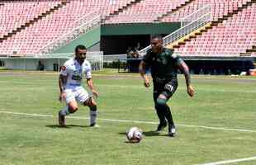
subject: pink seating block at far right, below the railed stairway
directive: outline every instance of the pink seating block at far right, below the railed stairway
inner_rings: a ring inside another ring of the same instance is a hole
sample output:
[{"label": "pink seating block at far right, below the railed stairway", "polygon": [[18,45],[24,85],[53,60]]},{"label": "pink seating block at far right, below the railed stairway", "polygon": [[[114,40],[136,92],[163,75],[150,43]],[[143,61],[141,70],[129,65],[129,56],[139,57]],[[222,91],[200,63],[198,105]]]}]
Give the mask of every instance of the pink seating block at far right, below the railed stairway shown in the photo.
[{"label": "pink seating block at far right, below the railed stairway", "polygon": [[219,26],[180,45],[184,56],[240,56],[256,45],[256,4],[230,17]]}]

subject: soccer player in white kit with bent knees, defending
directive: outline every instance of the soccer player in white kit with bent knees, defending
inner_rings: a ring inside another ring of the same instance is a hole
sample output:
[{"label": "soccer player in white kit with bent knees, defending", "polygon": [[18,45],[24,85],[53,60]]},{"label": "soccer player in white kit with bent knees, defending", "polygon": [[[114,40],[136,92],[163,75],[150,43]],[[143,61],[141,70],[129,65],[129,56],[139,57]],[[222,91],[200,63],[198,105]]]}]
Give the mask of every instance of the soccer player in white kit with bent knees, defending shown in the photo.
[{"label": "soccer player in white kit with bent knees, defending", "polygon": [[98,96],[98,92],[93,87],[92,69],[91,64],[86,59],[86,51],[85,46],[78,45],[75,48],[75,57],[67,60],[59,73],[59,99],[65,100],[67,103],[67,106],[59,111],[60,126],[65,126],[65,115],[78,110],[78,102],[90,108],[90,126],[97,126],[97,103],[82,87],[82,78],[85,74],[92,95]]}]

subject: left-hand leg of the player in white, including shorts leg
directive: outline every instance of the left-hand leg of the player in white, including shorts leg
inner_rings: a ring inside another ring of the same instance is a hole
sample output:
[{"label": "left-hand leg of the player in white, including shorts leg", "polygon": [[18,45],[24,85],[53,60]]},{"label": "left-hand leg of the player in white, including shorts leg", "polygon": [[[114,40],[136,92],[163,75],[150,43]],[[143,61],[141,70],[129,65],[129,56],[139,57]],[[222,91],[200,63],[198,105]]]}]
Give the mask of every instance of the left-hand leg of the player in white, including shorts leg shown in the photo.
[{"label": "left-hand leg of the player in white, including shorts leg", "polygon": [[66,90],[65,92],[67,106],[65,106],[61,111],[59,111],[60,126],[65,126],[65,115],[69,115],[78,110],[78,103],[75,100],[74,92],[72,92],[71,90]]}]

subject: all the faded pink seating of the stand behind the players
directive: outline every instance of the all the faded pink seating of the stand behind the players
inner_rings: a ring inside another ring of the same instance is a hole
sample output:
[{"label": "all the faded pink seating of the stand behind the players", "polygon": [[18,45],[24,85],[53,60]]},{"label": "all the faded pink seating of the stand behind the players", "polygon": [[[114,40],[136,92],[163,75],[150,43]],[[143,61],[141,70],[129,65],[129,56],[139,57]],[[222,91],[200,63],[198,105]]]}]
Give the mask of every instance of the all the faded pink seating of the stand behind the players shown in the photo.
[{"label": "all the faded pink seating of the stand behind the players", "polygon": [[[185,56],[256,56],[256,5],[253,0],[20,0],[0,3],[0,54],[35,54],[101,15],[105,24],[180,21],[211,5],[213,21],[221,21],[175,50]],[[246,7],[244,7],[244,5]],[[244,7],[242,11],[237,11]],[[238,12],[238,13],[237,13]],[[237,14],[236,14],[237,13]]]}]

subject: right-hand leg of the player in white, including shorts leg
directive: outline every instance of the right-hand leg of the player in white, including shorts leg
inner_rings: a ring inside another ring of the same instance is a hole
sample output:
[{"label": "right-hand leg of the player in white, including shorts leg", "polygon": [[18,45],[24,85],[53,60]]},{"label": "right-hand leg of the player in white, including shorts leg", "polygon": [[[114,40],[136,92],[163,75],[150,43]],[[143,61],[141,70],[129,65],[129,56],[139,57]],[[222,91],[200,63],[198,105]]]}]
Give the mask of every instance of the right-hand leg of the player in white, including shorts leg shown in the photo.
[{"label": "right-hand leg of the player in white, including shorts leg", "polygon": [[90,108],[90,126],[97,126],[97,103],[92,98],[89,97],[88,92],[83,88],[79,88],[77,100],[83,104],[83,106],[88,106]]}]

